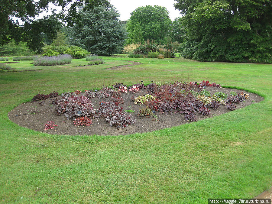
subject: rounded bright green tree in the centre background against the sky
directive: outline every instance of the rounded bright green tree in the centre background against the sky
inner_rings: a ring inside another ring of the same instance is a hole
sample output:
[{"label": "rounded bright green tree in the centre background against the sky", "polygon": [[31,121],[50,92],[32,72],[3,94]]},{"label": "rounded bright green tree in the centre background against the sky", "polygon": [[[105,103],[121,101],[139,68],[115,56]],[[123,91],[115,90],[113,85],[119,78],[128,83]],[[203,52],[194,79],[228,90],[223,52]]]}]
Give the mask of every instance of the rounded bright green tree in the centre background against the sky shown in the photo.
[{"label": "rounded bright green tree in the centre background against the sky", "polygon": [[[136,32],[134,32],[135,28],[137,29]],[[128,36],[134,43],[138,43],[137,40],[141,39],[140,31],[142,31],[144,40],[154,39],[156,42],[161,42],[170,28],[169,12],[162,6],[136,8],[135,11],[131,12],[131,17],[127,23]]]}]

